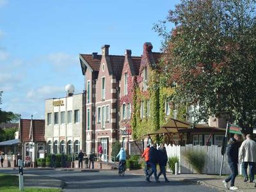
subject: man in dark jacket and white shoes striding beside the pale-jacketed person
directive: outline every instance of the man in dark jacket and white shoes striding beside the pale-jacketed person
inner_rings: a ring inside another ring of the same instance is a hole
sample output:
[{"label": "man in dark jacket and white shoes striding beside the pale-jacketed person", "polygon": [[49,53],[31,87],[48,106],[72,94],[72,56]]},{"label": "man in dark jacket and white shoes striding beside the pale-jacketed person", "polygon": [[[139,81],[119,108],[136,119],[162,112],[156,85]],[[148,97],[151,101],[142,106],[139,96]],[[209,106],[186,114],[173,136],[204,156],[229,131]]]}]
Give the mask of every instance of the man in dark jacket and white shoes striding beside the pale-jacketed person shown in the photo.
[{"label": "man in dark jacket and white shoes striding beside the pale-jacketed person", "polygon": [[239,150],[239,141],[241,141],[241,136],[238,134],[234,134],[234,138],[230,138],[227,146],[227,157],[228,164],[230,166],[231,175],[227,177],[227,179],[223,180],[223,184],[225,188],[228,189],[228,182],[230,182],[230,190],[236,190],[237,187],[235,184],[236,176],[238,175],[238,150]]}]

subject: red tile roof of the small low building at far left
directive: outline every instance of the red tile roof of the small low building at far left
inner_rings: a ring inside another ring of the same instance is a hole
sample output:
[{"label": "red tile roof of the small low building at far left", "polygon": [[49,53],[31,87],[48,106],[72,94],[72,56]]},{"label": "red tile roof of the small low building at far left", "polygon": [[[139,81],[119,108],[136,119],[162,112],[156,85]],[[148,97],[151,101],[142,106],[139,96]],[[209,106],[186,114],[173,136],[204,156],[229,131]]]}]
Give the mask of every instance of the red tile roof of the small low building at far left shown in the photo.
[{"label": "red tile roof of the small low building at far left", "polygon": [[[31,126],[30,119],[21,119],[20,120],[20,140],[22,142],[29,142],[29,131]],[[45,131],[45,121],[44,120],[33,120],[33,139],[34,141],[45,141],[44,131]]]}]

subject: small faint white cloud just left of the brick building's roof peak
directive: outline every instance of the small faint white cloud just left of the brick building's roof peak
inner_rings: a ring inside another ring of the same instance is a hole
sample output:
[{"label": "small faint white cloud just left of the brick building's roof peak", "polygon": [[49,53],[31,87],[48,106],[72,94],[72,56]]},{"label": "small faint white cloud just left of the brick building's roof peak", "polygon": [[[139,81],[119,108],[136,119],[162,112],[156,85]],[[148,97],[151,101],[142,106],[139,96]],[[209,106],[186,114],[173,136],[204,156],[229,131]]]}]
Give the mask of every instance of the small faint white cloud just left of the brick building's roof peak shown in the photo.
[{"label": "small faint white cloud just left of the brick building's roof peak", "polygon": [[47,56],[47,59],[58,69],[65,70],[68,67],[77,65],[78,57],[65,52],[55,52]]}]

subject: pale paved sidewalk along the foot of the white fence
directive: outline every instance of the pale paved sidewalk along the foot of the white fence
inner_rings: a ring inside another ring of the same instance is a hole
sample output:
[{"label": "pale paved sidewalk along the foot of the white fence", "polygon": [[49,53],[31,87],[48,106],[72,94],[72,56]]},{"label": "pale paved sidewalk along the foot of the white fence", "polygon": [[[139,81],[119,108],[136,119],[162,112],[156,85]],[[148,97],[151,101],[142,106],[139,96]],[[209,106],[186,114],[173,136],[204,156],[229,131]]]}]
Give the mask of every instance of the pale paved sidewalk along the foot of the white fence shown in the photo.
[{"label": "pale paved sidewalk along the foot of the white fence", "polygon": [[[127,171],[134,175],[144,175],[143,170],[130,170]],[[227,176],[221,176],[218,175],[200,175],[200,174],[180,174],[180,175],[173,175],[171,173],[166,173],[166,176],[170,180],[179,180],[184,182],[195,182],[196,184],[202,184],[204,186],[210,187],[210,188],[216,188],[220,191],[228,191],[224,188],[222,181]],[[162,177],[162,178],[161,178]],[[160,181],[163,180],[163,176],[160,177]],[[244,191],[244,192],[251,192],[256,191],[256,188],[254,187],[255,183],[249,183],[249,182],[243,182],[243,177],[236,177],[235,185],[237,186],[238,190],[236,191]]]}]

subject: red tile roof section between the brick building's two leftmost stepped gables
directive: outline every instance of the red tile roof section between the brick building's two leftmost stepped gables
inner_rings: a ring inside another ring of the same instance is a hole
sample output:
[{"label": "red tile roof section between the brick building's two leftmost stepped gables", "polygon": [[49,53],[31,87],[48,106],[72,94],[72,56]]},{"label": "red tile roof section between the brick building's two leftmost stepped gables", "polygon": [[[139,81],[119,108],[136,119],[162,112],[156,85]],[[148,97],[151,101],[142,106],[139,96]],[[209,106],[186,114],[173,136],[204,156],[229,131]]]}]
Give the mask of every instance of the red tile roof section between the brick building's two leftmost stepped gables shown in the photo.
[{"label": "red tile roof section between the brick building's two leftmost stepped gables", "polygon": [[116,79],[121,79],[122,70],[124,67],[124,56],[109,55],[110,62],[112,65],[113,73],[116,76]]}]

